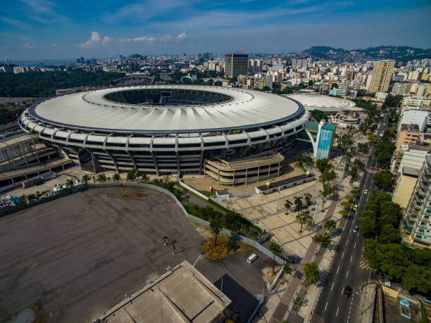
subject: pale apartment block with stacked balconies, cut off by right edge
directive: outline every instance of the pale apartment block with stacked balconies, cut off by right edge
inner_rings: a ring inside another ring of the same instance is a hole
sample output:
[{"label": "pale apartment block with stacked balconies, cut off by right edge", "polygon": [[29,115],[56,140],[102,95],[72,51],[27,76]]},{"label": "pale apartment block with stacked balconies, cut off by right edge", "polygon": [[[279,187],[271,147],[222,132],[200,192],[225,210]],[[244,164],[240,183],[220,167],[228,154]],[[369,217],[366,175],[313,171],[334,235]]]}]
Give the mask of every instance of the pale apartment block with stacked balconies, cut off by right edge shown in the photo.
[{"label": "pale apartment block with stacked balconies, cut off by right edge", "polygon": [[426,156],[413,195],[408,201],[404,229],[413,241],[431,244],[431,156]]}]

